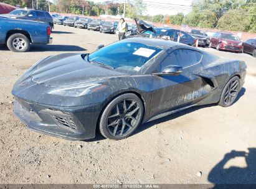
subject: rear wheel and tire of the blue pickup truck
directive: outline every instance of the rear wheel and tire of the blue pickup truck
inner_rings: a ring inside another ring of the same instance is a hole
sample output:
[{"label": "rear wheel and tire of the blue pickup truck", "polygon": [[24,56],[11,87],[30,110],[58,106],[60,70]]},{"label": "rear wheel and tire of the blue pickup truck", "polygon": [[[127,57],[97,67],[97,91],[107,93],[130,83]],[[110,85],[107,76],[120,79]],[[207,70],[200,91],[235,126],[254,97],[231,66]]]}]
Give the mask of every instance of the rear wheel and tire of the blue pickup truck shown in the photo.
[{"label": "rear wheel and tire of the blue pickup truck", "polygon": [[12,34],[6,44],[12,52],[27,52],[31,48],[31,42],[23,34]]}]

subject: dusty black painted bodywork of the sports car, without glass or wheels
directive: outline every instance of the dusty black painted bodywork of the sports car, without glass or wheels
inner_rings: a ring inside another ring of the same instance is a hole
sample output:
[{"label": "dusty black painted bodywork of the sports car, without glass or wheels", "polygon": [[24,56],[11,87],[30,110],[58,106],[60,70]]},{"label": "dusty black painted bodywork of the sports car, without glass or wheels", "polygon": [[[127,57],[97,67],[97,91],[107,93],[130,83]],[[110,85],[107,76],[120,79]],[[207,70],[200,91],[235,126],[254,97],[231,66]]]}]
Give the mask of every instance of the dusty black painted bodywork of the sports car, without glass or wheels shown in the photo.
[{"label": "dusty black painted bodywork of the sports car, without glass or wheels", "polygon": [[[161,114],[164,116],[191,106],[217,103],[225,83],[234,75],[239,75],[244,83],[246,65],[242,61],[222,60],[197,48],[166,40],[125,40],[161,47],[163,51],[134,75],[89,63],[79,53],[47,57],[24,73],[14,85],[14,113],[32,130],[82,140],[95,137],[103,108],[122,93],[135,93],[141,98],[145,106],[143,123],[159,118]],[[180,48],[200,52],[203,57],[195,65],[184,67],[181,75],[156,75],[158,66],[169,53]],[[79,83],[97,83],[101,87],[75,98],[48,93]]]}]

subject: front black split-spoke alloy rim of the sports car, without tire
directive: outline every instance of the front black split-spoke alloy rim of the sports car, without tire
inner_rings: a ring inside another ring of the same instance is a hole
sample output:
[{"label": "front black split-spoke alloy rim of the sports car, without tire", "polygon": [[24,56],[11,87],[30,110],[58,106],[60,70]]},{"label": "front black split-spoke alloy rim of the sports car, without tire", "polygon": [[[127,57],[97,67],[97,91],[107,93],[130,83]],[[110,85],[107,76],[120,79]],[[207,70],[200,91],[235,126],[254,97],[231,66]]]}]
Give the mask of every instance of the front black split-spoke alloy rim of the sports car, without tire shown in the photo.
[{"label": "front black split-spoke alloy rim of the sports car, without tire", "polygon": [[141,119],[141,107],[135,99],[123,99],[111,109],[107,118],[107,130],[113,137],[130,134]]}]

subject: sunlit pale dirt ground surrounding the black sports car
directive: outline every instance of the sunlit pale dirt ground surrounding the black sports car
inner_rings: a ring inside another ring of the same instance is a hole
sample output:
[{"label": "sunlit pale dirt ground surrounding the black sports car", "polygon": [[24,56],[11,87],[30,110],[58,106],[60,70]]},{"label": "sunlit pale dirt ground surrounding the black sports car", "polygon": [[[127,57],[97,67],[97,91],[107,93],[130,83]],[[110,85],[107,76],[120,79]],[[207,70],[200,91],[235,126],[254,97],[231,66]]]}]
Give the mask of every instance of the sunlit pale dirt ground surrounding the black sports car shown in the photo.
[{"label": "sunlit pale dirt ground surrounding the black sports car", "polygon": [[12,85],[43,57],[92,52],[117,36],[56,25],[52,37],[52,45],[27,53],[0,47],[0,183],[240,183],[244,175],[256,183],[256,58],[204,49],[248,65],[240,98],[229,108],[187,109],[122,141],[67,141],[29,131],[14,117]]}]

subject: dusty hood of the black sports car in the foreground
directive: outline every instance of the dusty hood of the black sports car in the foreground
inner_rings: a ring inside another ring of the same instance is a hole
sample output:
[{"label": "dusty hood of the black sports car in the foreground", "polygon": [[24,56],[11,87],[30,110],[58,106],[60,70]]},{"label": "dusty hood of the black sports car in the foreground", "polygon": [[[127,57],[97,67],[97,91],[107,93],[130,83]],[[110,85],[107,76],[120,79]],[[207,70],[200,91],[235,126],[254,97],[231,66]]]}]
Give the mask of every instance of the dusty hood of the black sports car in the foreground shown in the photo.
[{"label": "dusty hood of the black sports car in the foreground", "polygon": [[64,53],[39,62],[30,76],[35,83],[57,87],[121,75],[125,74],[90,63],[81,54]]}]

